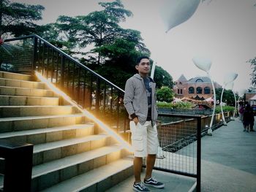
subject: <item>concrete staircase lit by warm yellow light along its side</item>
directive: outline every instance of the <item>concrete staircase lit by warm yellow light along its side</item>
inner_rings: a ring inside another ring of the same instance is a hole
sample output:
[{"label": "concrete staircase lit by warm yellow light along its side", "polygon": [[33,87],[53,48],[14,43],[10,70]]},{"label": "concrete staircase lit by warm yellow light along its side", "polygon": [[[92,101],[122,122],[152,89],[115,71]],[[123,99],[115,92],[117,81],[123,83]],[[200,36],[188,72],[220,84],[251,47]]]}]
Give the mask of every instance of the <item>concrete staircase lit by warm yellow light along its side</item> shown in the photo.
[{"label": "concrete staircase lit by warm yellow light along its side", "polygon": [[0,139],[34,145],[31,191],[106,191],[129,177],[127,150],[59,100],[35,77],[0,72]]}]

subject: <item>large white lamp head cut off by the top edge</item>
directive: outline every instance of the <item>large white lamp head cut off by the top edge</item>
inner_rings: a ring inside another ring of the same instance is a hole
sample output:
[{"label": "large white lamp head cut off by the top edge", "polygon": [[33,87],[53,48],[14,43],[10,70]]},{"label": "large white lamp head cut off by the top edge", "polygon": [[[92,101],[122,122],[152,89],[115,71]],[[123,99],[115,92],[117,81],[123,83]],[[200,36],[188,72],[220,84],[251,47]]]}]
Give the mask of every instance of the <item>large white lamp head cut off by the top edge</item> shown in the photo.
[{"label": "large white lamp head cut off by the top edge", "polygon": [[188,20],[197,9],[200,0],[166,0],[160,9],[166,32]]}]

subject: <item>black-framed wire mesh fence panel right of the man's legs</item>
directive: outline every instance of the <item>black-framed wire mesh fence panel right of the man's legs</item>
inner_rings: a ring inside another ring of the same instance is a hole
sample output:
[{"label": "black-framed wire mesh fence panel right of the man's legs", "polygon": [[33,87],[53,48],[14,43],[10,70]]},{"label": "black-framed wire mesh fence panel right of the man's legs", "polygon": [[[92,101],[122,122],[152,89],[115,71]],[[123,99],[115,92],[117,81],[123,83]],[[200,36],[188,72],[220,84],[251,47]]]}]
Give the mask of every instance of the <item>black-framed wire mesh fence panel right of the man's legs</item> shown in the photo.
[{"label": "black-framed wire mesh fence panel right of the man's legs", "polygon": [[154,169],[200,177],[200,117],[159,115],[159,153]]}]

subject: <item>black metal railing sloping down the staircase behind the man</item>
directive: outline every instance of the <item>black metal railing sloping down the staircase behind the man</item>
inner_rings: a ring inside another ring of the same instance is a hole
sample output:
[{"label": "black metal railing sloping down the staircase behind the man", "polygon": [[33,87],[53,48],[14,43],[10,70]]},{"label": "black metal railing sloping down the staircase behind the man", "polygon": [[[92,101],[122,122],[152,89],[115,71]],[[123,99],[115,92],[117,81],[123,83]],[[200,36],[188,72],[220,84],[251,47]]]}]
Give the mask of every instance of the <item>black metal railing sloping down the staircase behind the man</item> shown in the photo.
[{"label": "black metal railing sloping down the staircase behind the man", "polygon": [[1,70],[41,73],[81,107],[128,139],[124,91],[37,35],[4,40]]}]

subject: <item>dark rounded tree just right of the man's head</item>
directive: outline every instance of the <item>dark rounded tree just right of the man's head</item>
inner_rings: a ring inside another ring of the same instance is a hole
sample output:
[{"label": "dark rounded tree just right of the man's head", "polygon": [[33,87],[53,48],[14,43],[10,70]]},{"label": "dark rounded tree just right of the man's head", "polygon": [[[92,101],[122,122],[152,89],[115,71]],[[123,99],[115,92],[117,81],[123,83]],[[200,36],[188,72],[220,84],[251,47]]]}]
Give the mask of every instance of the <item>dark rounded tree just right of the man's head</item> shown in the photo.
[{"label": "dark rounded tree just right of the man's head", "polygon": [[157,88],[162,88],[162,86],[173,88],[173,77],[165,69],[162,69],[161,66],[156,66],[154,80],[157,82]]}]

